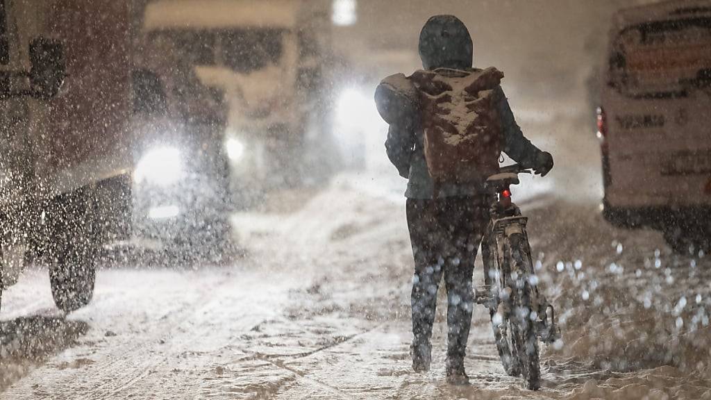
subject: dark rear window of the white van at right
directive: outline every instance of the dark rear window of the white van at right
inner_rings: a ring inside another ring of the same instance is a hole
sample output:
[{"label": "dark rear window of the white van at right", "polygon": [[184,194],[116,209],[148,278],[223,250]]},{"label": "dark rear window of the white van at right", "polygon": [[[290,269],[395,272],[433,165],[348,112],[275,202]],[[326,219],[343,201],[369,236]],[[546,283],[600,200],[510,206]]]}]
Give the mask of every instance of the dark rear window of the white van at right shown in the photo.
[{"label": "dark rear window of the white van at right", "polygon": [[711,18],[629,26],[613,42],[610,83],[636,97],[685,95],[711,75]]}]

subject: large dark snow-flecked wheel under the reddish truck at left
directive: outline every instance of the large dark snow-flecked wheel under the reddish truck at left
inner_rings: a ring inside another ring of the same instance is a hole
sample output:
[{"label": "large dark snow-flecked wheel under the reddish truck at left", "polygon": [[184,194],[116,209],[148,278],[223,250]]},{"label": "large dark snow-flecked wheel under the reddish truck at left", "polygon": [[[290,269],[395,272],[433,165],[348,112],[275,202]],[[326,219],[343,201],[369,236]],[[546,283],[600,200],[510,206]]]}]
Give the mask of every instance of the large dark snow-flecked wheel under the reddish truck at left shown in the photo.
[{"label": "large dark snow-flecked wheel under the reddish truck at left", "polygon": [[73,196],[50,214],[49,278],[55,305],[64,312],[84,307],[94,295],[99,236],[88,197]]}]

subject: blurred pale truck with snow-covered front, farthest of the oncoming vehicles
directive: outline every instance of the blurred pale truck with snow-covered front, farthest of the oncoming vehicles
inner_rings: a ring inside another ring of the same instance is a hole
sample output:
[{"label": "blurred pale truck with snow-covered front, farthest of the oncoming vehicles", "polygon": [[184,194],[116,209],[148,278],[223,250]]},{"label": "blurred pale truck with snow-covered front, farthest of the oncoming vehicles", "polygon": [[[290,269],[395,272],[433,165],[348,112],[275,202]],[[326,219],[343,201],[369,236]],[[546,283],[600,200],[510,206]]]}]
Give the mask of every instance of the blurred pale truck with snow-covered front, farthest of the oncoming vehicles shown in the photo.
[{"label": "blurred pale truck with snow-covered front, farthest of the oncoming vehicles", "polygon": [[320,100],[328,28],[314,3],[160,0],[146,6],[143,29],[151,46],[181,54],[203,83],[225,92],[237,204],[299,184],[309,176],[307,142],[326,133]]}]

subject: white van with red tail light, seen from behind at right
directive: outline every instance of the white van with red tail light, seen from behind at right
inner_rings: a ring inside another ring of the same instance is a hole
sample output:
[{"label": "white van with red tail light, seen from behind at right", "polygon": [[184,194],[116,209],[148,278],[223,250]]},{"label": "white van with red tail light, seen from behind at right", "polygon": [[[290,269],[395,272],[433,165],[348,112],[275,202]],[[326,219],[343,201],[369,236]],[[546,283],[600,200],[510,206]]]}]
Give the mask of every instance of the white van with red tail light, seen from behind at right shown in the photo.
[{"label": "white van with red tail light, seen from behind at right", "polygon": [[678,252],[711,236],[711,1],[614,16],[602,104],[604,216],[663,231]]}]

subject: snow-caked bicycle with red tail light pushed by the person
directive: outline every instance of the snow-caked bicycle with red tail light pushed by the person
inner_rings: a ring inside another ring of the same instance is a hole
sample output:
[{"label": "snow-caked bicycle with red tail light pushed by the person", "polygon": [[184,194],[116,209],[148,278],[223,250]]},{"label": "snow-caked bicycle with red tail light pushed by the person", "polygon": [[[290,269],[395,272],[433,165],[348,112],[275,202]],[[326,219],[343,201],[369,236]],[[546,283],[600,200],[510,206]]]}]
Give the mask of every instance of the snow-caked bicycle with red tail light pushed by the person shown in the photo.
[{"label": "snow-caked bicycle with red tail light pushed by the person", "polygon": [[528,218],[511,199],[510,186],[519,184],[520,164],[501,168],[489,177],[491,221],[481,252],[484,286],[476,288],[475,301],[488,307],[501,363],[512,377],[523,375],[530,390],[540,388],[538,340],[551,344],[560,339],[555,309],[538,290],[526,233]]}]

